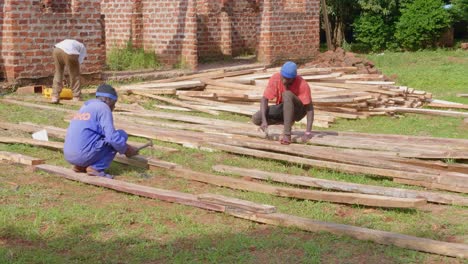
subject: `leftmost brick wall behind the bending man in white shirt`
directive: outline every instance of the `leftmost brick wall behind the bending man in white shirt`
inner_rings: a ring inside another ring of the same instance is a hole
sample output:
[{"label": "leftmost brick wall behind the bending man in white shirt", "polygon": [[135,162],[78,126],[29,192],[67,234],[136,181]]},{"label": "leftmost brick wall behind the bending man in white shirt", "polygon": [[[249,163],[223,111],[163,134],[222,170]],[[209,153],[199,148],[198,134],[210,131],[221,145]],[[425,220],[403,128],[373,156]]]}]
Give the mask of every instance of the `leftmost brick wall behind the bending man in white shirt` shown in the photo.
[{"label": "leftmost brick wall behind the bending man in white shirt", "polygon": [[2,2],[2,49],[8,81],[53,76],[53,45],[72,38],[88,51],[82,73],[101,72],[105,61],[100,0],[6,0]]}]

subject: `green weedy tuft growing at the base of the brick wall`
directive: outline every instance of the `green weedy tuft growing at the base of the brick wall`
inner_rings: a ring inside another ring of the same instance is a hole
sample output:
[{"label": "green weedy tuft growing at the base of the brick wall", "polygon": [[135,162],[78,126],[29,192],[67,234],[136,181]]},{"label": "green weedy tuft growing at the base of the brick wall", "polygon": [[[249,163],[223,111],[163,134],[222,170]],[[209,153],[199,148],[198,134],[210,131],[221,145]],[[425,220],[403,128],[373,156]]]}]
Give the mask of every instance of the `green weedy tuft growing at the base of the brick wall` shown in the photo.
[{"label": "green weedy tuft growing at the base of the brick wall", "polygon": [[113,71],[158,68],[156,54],[134,48],[131,42],[124,49],[113,47],[107,54],[107,67]]}]

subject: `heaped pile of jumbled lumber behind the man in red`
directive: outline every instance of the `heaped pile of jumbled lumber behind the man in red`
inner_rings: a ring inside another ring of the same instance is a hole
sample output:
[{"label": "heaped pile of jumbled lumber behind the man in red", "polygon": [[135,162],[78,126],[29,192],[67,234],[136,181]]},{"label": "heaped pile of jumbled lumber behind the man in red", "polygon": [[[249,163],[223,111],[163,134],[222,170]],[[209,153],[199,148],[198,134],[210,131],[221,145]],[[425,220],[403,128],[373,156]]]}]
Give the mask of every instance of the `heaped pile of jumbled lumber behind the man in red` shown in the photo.
[{"label": "heaped pile of jumbled lumber behind the man in red", "polygon": [[[315,126],[329,127],[336,118],[364,119],[393,113],[395,109],[416,108],[432,97],[424,91],[397,86],[381,74],[355,74],[356,70],[357,67],[308,67],[299,70],[311,88]],[[257,68],[208,72],[125,85],[118,89],[121,93],[169,104],[157,105],[159,108],[213,115],[225,111],[250,116],[259,110],[268,79],[278,71],[279,68]],[[166,95],[174,95],[177,99]],[[301,122],[305,123],[305,119]]]}]

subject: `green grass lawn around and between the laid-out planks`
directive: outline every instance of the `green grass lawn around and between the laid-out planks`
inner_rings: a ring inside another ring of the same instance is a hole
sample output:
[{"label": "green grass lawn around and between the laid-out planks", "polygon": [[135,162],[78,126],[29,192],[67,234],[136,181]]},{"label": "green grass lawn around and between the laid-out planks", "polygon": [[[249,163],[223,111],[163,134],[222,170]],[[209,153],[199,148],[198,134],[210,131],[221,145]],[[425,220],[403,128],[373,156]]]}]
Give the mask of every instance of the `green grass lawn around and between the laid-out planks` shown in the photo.
[{"label": "green grass lawn around and between the laid-out planks", "polygon": [[[371,59],[386,74],[397,74],[393,72],[397,72],[399,67],[405,67],[405,61],[413,61],[411,67],[398,74],[398,82],[433,92],[436,97],[439,97],[438,88],[444,87],[444,98],[448,99],[466,87],[464,84],[468,78],[457,74],[460,69],[466,69],[466,64],[450,63],[450,58],[456,56],[466,60],[466,55],[456,51],[386,53],[383,56],[373,55]],[[439,63],[431,64],[431,57]],[[433,70],[433,67],[439,67],[443,61],[447,64],[444,67],[452,69],[445,73],[444,78],[440,77],[443,74],[439,75],[438,70]],[[414,77],[424,73],[424,68],[432,72],[424,78],[433,78],[432,81]],[[435,78],[436,76],[438,77]],[[459,78],[460,84],[451,84],[455,77]],[[420,81],[433,86],[424,87],[425,83]],[[443,96],[442,93],[440,96]],[[462,102],[460,98],[456,99]],[[149,101],[142,105],[153,109],[154,103],[156,102]],[[66,127],[67,123],[63,118],[64,114],[60,112],[0,104],[2,121],[28,121]],[[248,122],[247,117],[237,115],[222,114],[220,118]],[[461,119],[422,115],[340,120],[331,130],[468,138],[467,129],[462,126]],[[0,135],[18,136],[18,133],[0,130]],[[135,137],[131,137],[131,140],[142,141]],[[213,165],[225,164],[324,179],[421,189],[367,175],[351,175],[223,152],[210,153],[167,142],[155,143],[180,151],[164,153],[145,149],[142,154],[175,162],[196,171],[213,173]],[[49,164],[69,166],[59,151],[20,144],[0,144],[0,150],[45,158]],[[463,207],[434,205],[431,207],[433,210],[403,210],[348,206],[219,188],[180,179],[173,172],[162,169],[146,171],[113,163],[109,172],[118,175],[118,179],[155,188],[194,194],[218,193],[271,204],[279,212],[319,221],[444,241],[455,238],[468,243],[468,215]],[[20,188],[16,191],[7,182],[16,182]],[[346,236],[260,225],[220,213],[118,193],[47,173],[32,173],[21,166],[0,163],[0,263],[122,262],[468,263]]]}]

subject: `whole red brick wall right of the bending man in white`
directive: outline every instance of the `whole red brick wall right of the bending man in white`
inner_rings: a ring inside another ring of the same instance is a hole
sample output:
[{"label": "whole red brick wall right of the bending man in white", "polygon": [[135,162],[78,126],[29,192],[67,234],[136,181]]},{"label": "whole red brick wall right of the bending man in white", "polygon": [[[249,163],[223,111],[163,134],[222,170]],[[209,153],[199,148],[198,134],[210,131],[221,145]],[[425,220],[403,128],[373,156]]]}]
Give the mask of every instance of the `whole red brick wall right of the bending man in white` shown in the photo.
[{"label": "whole red brick wall right of the bending man in white", "polygon": [[319,0],[101,0],[107,50],[135,46],[165,64],[256,51],[259,60],[301,60],[319,47]]}]

